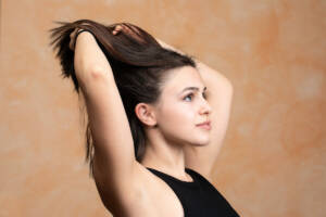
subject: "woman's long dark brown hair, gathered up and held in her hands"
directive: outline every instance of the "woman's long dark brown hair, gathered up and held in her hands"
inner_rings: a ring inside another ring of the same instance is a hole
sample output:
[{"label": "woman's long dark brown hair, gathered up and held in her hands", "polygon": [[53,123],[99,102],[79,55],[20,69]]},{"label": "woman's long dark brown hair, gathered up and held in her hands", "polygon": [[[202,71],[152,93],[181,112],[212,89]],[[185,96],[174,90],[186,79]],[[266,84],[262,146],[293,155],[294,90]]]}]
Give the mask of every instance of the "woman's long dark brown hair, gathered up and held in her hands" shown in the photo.
[{"label": "woman's long dark brown hair, gathered up and held in her hands", "polygon": [[[143,156],[146,133],[141,122],[135,114],[135,106],[140,103],[154,104],[159,101],[167,71],[192,66],[191,56],[165,49],[147,31],[130,23],[104,25],[90,20],[72,23],[55,22],[59,27],[50,29],[53,50],[60,60],[63,78],[71,78],[79,95],[79,85],[74,71],[74,52],[68,48],[70,35],[75,28],[89,30],[105,54],[120,91],[133,133],[135,157],[138,162]],[[124,25],[128,31],[113,35],[116,25]],[[109,132],[110,133],[110,132]],[[86,162],[89,162],[92,177],[93,141],[89,122],[86,127]]]}]

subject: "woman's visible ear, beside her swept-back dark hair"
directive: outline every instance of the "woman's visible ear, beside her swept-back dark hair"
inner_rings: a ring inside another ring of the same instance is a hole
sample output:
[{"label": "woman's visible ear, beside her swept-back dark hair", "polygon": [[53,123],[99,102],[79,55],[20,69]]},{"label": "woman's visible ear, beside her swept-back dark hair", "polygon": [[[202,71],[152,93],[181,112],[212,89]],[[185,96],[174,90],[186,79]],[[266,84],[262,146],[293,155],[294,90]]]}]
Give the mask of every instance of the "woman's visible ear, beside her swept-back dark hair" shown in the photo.
[{"label": "woman's visible ear, beside her swept-back dark hair", "polygon": [[156,125],[155,114],[151,105],[147,103],[138,103],[135,106],[135,113],[142,124],[149,127],[154,127]]}]

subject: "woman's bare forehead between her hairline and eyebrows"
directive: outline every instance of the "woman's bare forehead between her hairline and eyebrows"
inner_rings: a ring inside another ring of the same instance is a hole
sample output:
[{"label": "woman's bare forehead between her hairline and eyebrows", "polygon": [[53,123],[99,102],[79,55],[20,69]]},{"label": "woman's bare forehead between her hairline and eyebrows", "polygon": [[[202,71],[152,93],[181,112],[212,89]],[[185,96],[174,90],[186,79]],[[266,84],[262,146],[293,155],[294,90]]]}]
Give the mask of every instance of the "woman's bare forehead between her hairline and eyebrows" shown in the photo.
[{"label": "woman's bare forehead between her hairline and eyebrows", "polygon": [[171,71],[164,82],[163,92],[178,92],[186,87],[203,87],[203,81],[199,72],[191,66],[184,66]]}]

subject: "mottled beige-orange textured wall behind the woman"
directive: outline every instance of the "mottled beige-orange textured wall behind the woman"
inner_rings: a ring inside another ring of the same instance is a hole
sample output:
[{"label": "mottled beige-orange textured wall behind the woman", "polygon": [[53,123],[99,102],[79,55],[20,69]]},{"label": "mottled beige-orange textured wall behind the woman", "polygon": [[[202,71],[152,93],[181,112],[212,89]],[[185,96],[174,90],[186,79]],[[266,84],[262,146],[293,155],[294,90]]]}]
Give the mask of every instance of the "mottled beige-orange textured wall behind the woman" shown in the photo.
[{"label": "mottled beige-orange textured wall behind the woman", "polygon": [[0,216],[111,216],[52,21],[130,22],[235,87],[214,186],[244,217],[326,216],[326,1],[1,1]]}]

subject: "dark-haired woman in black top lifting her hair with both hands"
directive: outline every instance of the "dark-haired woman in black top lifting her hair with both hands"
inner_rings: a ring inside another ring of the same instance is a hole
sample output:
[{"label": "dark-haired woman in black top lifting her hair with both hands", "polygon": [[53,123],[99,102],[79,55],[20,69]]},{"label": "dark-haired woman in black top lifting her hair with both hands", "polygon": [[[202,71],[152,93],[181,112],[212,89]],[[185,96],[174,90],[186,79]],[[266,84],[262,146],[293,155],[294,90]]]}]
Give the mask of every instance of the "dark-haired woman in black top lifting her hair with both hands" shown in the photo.
[{"label": "dark-haired woman in black top lifting her hair with both hands", "polygon": [[211,184],[233,94],[220,73],[120,23],[52,29],[63,75],[82,90],[87,159],[114,216],[238,216]]}]

